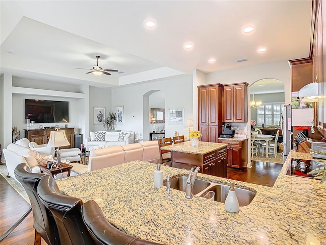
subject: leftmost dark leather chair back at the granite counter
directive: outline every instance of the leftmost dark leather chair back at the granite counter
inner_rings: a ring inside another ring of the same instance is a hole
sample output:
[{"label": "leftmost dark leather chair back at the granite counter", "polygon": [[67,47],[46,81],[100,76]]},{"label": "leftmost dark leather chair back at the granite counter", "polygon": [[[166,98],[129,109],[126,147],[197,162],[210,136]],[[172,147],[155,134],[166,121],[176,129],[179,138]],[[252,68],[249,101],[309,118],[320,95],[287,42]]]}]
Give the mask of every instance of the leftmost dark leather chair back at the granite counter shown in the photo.
[{"label": "leftmost dark leather chair back at the granite counter", "polygon": [[31,173],[30,168],[25,163],[18,164],[14,174],[24,187],[31,201],[35,231],[42,236],[47,244],[60,244],[55,219],[37,195],[38,184],[45,174]]}]

